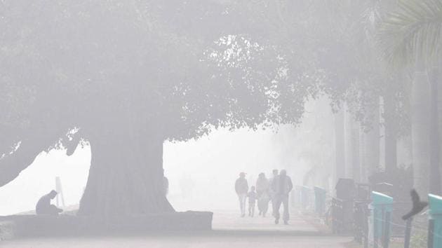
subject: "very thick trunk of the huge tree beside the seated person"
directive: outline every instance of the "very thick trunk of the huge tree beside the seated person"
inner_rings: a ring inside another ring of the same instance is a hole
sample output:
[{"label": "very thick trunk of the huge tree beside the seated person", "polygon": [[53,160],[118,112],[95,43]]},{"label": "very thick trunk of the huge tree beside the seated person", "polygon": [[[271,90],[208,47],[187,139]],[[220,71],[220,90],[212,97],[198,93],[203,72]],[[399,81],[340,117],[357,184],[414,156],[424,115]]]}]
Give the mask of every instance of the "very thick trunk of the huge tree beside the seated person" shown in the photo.
[{"label": "very thick trunk of the huge tree beside the seated person", "polygon": [[91,141],[91,169],[79,214],[109,218],[173,212],[163,190],[163,139],[109,136]]}]

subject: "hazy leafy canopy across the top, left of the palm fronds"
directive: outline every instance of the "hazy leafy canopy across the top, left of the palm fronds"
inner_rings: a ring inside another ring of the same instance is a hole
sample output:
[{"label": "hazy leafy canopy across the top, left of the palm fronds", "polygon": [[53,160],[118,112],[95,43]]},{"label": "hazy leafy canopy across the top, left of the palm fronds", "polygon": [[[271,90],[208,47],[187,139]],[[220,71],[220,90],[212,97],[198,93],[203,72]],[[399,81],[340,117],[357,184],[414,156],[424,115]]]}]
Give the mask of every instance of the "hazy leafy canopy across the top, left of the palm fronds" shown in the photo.
[{"label": "hazy leafy canopy across the top, left of the palm fronds", "polygon": [[[0,1],[0,186],[81,140],[296,124],[322,93],[369,127],[397,80],[374,45],[388,4]],[[406,97],[394,90],[397,116]]]}]

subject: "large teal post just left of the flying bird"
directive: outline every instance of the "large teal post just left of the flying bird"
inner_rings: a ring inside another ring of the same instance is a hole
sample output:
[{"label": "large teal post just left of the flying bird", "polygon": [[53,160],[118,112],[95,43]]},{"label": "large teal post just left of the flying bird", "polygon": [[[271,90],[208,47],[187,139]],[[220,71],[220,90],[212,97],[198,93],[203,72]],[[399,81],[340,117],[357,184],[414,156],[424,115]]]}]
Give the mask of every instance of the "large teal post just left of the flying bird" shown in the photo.
[{"label": "large teal post just left of the flying bird", "polygon": [[371,193],[373,211],[373,246],[379,247],[379,240],[382,246],[388,247],[390,240],[389,219],[393,210],[393,198],[382,193],[372,191]]}]

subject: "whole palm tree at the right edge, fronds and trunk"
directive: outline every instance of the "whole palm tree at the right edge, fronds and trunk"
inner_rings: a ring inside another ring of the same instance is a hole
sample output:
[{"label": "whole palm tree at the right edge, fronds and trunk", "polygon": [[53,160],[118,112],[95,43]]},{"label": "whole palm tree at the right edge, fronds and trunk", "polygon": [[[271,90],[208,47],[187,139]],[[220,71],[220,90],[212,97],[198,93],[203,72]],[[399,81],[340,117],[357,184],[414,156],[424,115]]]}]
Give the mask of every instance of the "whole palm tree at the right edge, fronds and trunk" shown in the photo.
[{"label": "whole palm tree at the right edge, fronds and trunk", "polygon": [[[442,50],[442,0],[401,0],[399,8],[389,14],[380,28],[380,45],[387,62],[394,68],[404,68],[415,64],[416,68],[423,68],[422,74],[415,75],[413,95],[415,101],[415,113],[413,113],[413,143],[420,141],[421,144],[413,144],[413,150],[420,149],[422,154],[417,154],[423,160],[429,152],[428,170],[422,168],[422,164],[413,163],[417,172],[417,178],[425,181],[429,177],[429,191],[440,193],[441,181],[439,174],[439,137],[438,137],[438,75],[440,73],[440,59]],[[422,81],[416,81],[421,79]],[[427,80],[426,80],[427,79]],[[427,82],[429,85],[426,85]],[[425,89],[429,91],[425,92]],[[429,103],[428,101],[428,95]],[[421,109],[429,105],[429,109]],[[426,114],[427,113],[427,114]],[[427,117],[426,117],[427,116]],[[426,130],[425,127],[428,127]],[[416,133],[417,132],[417,133]],[[428,135],[427,137],[417,137]],[[425,141],[429,144],[429,151],[425,151]],[[417,145],[417,146],[415,146]],[[419,168],[420,167],[420,168]],[[424,169],[424,170],[422,170]],[[417,181],[417,184],[422,182]]]}]

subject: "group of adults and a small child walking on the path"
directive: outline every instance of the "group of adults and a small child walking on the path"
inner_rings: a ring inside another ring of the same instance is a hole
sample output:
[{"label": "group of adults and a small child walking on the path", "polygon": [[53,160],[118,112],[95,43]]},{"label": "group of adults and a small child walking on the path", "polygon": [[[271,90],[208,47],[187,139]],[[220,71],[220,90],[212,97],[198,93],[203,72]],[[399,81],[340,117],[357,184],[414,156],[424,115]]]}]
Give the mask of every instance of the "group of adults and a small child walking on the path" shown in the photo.
[{"label": "group of adults and a small child walking on the path", "polygon": [[248,181],[246,173],[239,173],[239,178],[235,182],[235,191],[239,198],[239,208],[241,210],[241,217],[246,216],[246,202],[248,199],[248,216],[253,217],[255,214],[255,205],[260,216],[265,217],[269,209],[269,202],[272,202],[272,216],[275,218],[275,223],[279,223],[280,214],[279,209],[283,205],[283,221],[288,224],[289,209],[288,209],[288,195],[293,189],[293,183],[290,177],[287,176],[286,170],[273,170],[272,178],[267,179],[264,173],[258,175],[255,186],[248,188]]}]

